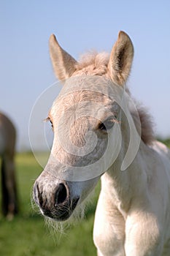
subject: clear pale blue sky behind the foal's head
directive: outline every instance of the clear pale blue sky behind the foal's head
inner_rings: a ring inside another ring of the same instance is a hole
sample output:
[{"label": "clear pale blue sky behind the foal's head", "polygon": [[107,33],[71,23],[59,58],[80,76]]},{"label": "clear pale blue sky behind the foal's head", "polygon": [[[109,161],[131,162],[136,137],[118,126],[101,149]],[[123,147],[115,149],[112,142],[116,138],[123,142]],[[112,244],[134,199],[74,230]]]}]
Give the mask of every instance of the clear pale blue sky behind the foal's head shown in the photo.
[{"label": "clear pale blue sky behind the foal's head", "polygon": [[[118,31],[126,31],[135,49],[131,93],[150,110],[156,133],[169,136],[169,24],[169,0],[1,1],[0,110],[18,129],[18,148],[29,147],[31,108],[56,80],[48,50],[52,33],[77,59],[90,49],[110,51]],[[38,129],[35,133],[38,142]]]}]

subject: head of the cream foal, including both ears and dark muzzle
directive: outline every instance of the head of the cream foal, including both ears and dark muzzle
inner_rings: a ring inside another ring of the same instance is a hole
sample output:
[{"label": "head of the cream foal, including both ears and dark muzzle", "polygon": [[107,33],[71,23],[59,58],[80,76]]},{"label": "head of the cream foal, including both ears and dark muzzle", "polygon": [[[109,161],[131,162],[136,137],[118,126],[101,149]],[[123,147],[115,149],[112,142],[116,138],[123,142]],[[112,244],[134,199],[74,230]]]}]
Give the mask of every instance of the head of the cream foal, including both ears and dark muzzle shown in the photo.
[{"label": "head of the cream foal, including both ears and dark muzzle", "polygon": [[50,158],[34,184],[34,200],[45,216],[68,219],[115,161],[123,86],[133,56],[123,31],[110,56],[92,54],[80,62],[50,37],[50,57],[63,89],[48,116],[54,132]]}]

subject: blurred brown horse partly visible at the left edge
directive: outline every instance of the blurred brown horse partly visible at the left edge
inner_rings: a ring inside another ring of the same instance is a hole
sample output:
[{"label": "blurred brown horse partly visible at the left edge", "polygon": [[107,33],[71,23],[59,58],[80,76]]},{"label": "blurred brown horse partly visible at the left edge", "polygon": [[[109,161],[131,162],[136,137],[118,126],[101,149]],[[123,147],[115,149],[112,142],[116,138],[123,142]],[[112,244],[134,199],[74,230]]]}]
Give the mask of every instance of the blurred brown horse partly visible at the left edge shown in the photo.
[{"label": "blurred brown horse partly visible at the left edge", "polygon": [[0,156],[2,213],[12,219],[18,213],[18,197],[15,181],[15,140],[16,131],[12,122],[0,113]]}]

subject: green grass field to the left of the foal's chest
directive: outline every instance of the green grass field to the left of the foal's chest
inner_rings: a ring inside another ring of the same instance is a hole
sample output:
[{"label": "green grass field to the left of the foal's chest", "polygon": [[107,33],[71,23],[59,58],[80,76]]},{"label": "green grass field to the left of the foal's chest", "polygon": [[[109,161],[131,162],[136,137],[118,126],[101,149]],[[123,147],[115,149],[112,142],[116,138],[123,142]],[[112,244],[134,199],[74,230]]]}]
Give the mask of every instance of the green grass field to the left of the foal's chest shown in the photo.
[{"label": "green grass field to the left of the foal's chest", "polygon": [[[88,207],[85,219],[67,228],[64,234],[45,225],[31,207],[31,189],[42,168],[32,154],[16,156],[20,213],[12,221],[0,215],[0,255],[2,256],[83,256],[96,255],[93,219],[96,203]],[[97,188],[97,200],[99,187]]]}]

